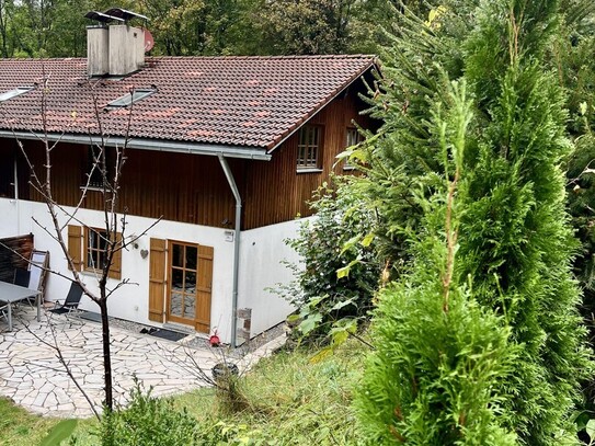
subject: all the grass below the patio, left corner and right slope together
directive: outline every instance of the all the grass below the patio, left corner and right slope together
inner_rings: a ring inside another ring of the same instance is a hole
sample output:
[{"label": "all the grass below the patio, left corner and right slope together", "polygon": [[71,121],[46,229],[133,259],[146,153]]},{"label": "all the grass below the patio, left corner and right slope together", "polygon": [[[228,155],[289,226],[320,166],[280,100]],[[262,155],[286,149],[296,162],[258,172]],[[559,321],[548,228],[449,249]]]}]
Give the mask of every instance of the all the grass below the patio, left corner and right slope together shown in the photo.
[{"label": "all the grass below the patio, left corner and right slope together", "polygon": [[[214,445],[358,444],[351,401],[366,352],[355,341],[318,363],[311,362],[312,351],[279,352],[239,378],[238,411],[230,410],[229,399],[211,388],[178,396],[174,403],[186,408]],[[37,445],[58,422],[30,415],[0,399],[2,446]],[[80,422],[75,431],[77,445],[98,445],[99,438],[92,435],[96,426],[93,419]]]}]

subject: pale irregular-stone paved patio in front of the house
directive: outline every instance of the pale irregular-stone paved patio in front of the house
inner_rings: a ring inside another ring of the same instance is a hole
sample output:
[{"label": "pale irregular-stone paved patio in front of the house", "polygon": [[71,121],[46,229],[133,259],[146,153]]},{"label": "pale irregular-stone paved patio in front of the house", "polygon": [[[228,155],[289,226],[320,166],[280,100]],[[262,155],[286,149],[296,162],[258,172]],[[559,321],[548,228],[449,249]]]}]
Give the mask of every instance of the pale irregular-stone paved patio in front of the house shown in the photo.
[{"label": "pale irregular-stone paved patio in front of the house", "polygon": [[[57,358],[56,351],[39,339],[54,345],[48,318],[34,318],[26,310],[15,318],[14,330],[7,332],[7,322],[0,319],[0,396],[11,398],[31,412],[60,418],[85,418],[93,412],[88,401],[68,377]],[[101,325],[94,322],[66,324],[64,316],[54,317],[54,332],[64,357],[73,376],[95,407],[103,399],[103,359]],[[64,329],[64,331],[62,331]],[[210,374],[221,361],[221,351],[190,348],[180,341],[163,341],[155,336],[111,328],[114,399],[126,403],[133,376],[145,387],[153,387],[155,396],[180,393],[205,386],[196,374],[196,364]],[[273,341],[270,344],[277,344]],[[242,369],[271,353],[276,345],[265,345],[239,362]]]}]

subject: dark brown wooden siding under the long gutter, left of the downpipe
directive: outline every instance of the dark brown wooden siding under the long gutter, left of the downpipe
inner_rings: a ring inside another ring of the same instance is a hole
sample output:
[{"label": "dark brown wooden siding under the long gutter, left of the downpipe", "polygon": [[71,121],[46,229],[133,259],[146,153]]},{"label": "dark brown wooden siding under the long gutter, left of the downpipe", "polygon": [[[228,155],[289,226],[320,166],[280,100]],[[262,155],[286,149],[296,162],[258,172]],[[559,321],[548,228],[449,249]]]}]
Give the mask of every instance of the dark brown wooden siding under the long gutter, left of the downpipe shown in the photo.
[{"label": "dark brown wooden siding under the long gutter, left of the downpipe", "polygon": [[[35,165],[43,164],[43,150],[34,150]],[[236,210],[233,195],[216,157],[199,157],[145,150],[128,150],[122,175],[118,211],[148,218],[194,225],[231,227]],[[87,171],[87,147],[62,144],[53,152],[52,182],[55,199],[75,206],[80,199]],[[244,164],[230,160],[237,181],[243,181]],[[32,199],[42,201],[33,187]],[[102,195],[89,191],[83,207],[102,208]]]}]

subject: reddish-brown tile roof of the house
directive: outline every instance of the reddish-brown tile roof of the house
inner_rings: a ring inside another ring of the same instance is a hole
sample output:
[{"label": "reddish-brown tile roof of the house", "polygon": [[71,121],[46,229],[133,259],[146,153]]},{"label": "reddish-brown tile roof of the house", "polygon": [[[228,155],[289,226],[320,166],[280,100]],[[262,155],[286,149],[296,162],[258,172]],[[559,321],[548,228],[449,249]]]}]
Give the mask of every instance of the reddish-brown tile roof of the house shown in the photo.
[{"label": "reddish-brown tile roof of the house", "polygon": [[[157,93],[133,106],[130,136],[271,149],[374,65],[370,56],[156,57],[122,80],[87,77],[87,59],[2,59],[0,129],[125,136],[128,108],[105,105],[136,88]],[[44,79],[46,81],[44,82]],[[44,88],[45,85],[45,88]]]}]

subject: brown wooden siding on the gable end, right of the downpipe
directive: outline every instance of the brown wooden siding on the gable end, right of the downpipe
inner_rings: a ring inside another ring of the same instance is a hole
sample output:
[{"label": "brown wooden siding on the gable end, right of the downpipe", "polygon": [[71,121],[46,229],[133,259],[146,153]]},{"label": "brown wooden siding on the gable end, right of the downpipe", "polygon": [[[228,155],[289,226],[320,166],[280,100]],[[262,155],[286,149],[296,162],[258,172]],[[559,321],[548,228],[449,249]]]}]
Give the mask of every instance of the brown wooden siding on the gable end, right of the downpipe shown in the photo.
[{"label": "brown wooden siding on the gable end, right of the downpipe", "polygon": [[362,104],[355,93],[343,94],[313,116],[309,124],[321,125],[322,171],[298,172],[298,133],[273,152],[268,162],[253,162],[248,173],[243,226],[247,229],[288,221],[312,214],[307,202],[331,172],[343,174],[344,161],[336,156],[345,149],[346,130],[355,121],[368,127],[367,116],[358,115]]}]

